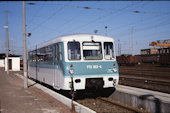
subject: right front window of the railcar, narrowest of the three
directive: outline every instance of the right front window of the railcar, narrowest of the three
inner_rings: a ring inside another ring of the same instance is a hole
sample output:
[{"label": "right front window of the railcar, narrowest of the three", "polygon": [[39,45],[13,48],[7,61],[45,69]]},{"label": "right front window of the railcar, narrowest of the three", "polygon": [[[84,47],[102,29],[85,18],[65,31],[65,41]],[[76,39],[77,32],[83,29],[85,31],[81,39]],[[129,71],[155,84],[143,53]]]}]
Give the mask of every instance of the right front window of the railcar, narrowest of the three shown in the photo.
[{"label": "right front window of the railcar, narrowest of the three", "polygon": [[104,43],[104,53],[106,60],[114,59],[114,48],[112,42],[105,42]]}]

